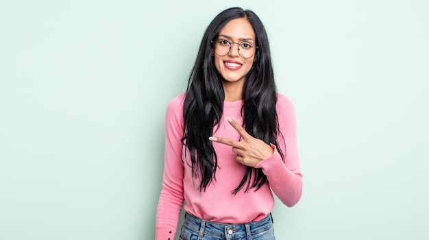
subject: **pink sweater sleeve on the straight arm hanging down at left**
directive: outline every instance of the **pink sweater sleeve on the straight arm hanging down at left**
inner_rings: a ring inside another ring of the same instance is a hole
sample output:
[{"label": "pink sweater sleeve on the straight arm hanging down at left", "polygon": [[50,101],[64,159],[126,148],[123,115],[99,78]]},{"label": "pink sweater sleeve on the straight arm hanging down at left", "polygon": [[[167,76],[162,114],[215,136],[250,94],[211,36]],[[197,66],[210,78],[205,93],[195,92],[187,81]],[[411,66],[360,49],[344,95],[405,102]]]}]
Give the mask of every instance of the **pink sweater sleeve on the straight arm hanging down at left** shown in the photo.
[{"label": "pink sweater sleeve on the straight arm hanging down at left", "polygon": [[182,162],[183,115],[182,97],[167,106],[165,117],[165,150],[162,189],[156,210],[155,239],[174,239],[184,203]]}]

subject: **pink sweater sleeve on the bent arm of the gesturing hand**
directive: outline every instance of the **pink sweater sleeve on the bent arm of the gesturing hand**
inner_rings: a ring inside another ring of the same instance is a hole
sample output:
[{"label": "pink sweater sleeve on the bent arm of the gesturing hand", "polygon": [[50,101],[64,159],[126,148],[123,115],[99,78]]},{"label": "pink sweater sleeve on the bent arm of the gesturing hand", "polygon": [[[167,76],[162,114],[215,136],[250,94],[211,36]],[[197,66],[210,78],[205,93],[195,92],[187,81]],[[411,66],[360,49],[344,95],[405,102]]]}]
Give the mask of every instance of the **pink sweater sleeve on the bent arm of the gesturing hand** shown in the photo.
[{"label": "pink sweater sleeve on the bent arm of the gesturing hand", "polygon": [[[280,127],[278,145],[273,146],[274,153],[270,158],[262,160],[255,167],[262,168],[269,186],[280,201],[286,206],[294,206],[302,195],[302,174],[297,150],[295,110],[291,100],[279,94],[277,112]],[[282,150],[284,160],[278,148]]]}]

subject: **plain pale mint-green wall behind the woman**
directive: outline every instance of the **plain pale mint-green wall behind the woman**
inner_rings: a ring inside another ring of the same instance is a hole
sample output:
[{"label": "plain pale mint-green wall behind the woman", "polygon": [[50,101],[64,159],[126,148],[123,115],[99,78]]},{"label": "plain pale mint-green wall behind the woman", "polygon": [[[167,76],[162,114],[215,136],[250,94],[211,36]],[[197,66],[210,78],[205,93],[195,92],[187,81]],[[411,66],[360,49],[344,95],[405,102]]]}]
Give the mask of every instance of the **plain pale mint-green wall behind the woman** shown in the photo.
[{"label": "plain pale mint-green wall behind the woman", "polygon": [[154,239],[165,108],[234,5],[297,113],[278,239],[429,239],[425,0],[1,0],[0,239]]}]

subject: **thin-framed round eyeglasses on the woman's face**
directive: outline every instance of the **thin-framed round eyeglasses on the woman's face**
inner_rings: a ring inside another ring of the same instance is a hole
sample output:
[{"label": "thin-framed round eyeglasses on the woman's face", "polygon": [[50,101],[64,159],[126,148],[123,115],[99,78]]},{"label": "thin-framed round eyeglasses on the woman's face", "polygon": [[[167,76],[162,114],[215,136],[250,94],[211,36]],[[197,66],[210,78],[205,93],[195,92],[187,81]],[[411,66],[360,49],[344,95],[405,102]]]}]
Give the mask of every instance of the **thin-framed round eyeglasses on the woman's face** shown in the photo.
[{"label": "thin-framed round eyeglasses on the woman's face", "polygon": [[238,54],[240,54],[242,58],[252,58],[256,53],[256,49],[259,48],[258,46],[255,46],[254,43],[232,43],[221,38],[218,40],[212,40],[212,43],[215,44],[213,48],[215,49],[215,53],[219,56],[225,56],[230,53],[232,44],[238,45]]}]

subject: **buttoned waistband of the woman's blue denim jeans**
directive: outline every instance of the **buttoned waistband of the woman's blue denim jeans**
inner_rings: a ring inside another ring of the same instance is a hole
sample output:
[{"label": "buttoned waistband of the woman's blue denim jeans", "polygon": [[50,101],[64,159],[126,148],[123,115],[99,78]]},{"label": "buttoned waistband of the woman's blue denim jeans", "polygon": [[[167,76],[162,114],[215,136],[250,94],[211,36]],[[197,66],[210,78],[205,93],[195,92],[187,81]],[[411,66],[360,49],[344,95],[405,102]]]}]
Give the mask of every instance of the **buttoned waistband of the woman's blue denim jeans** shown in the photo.
[{"label": "buttoned waistband of the woman's blue denim jeans", "polygon": [[219,224],[195,217],[189,213],[185,215],[182,228],[187,228],[198,234],[198,237],[225,237],[226,239],[236,239],[246,237],[252,239],[252,235],[258,235],[273,228],[271,214],[260,221],[251,221],[246,224]]}]

